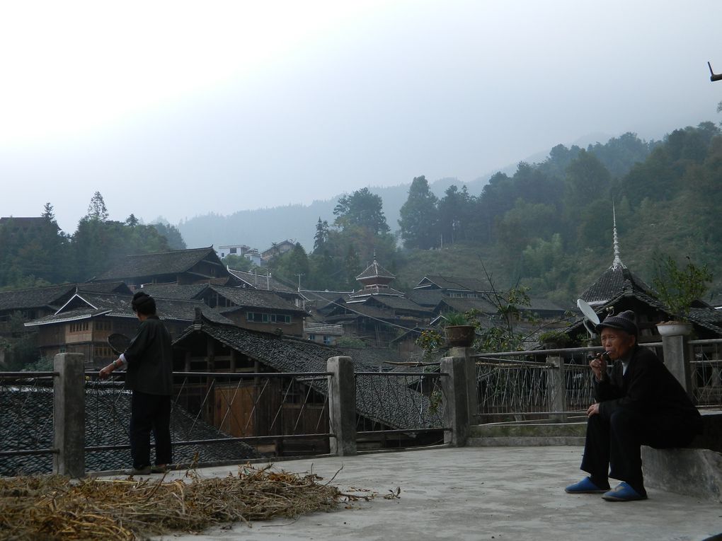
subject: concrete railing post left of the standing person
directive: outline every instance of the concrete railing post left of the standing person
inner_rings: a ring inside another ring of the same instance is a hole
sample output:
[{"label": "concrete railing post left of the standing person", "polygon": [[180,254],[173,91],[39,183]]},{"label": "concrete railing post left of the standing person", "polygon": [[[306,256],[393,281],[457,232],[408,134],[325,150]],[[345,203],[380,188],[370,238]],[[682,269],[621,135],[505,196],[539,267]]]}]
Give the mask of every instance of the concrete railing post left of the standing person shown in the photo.
[{"label": "concrete railing post left of the standing person", "polygon": [[53,473],[85,476],[85,373],[81,353],[59,353],[53,370]]}]

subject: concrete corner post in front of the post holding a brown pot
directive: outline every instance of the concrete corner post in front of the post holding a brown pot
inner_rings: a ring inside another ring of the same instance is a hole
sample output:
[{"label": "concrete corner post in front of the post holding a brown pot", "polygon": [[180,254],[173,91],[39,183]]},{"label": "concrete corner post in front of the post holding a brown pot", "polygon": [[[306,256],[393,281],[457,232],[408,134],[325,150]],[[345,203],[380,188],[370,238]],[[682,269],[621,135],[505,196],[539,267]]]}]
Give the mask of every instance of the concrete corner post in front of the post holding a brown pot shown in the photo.
[{"label": "concrete corner post in front of the post holding a brown pot", "polygon": [[444,433],[444,443],[453,447],[464,447],[471,429],[466,360],[461,357],[444,357],[441,359],[441,371],[449,374],[441,377],[444,426],[451,428],[451,432]]}]

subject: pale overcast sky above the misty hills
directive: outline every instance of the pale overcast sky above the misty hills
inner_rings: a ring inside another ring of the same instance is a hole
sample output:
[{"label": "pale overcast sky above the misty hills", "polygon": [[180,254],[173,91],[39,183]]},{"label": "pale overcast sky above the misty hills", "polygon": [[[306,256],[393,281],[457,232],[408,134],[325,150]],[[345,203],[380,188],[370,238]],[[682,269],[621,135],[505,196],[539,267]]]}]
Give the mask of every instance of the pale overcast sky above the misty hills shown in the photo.
[{"label": "pale overcast sky above the misty hills", "polygon": [[[715,1],[9,1],[0,216],[111,219],[469,182],[718,122]],[[263,226],[263,224],[259,224]]]}]

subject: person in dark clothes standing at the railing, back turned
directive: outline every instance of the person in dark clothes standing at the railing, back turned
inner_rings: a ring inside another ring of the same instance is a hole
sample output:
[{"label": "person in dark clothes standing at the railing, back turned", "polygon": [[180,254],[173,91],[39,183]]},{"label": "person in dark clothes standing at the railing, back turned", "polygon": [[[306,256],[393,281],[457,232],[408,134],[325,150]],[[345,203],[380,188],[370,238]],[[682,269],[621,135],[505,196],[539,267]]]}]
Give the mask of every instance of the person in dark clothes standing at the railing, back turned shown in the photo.
[{"label": "person in dark clothes standing at the railing, back turned", "polygon": [[[133,467],[126,475],[147,475],[168,470],[170,403],[173,395],[173,354],[170,333],[155,313],[155,299],[144,291],[131,304],[140,321],[138,332],[118,359],[100,370],[100,378],[128,365],[126,388],[131,396],[130,440]],[[155,465],[150,462],[150,431],[155,438]]]}]

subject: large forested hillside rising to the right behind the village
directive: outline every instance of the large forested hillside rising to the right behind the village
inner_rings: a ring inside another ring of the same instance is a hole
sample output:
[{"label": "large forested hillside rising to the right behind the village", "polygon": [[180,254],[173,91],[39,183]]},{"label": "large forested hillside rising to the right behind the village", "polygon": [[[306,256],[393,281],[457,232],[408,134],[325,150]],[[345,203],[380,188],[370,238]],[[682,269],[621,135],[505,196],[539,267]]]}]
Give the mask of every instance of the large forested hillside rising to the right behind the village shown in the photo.
[{"label": "large forested hillside rising to the right behind the village", "polygon": [[479,195],[451,185],[439,198],[417,177],[401,207],[401,249],[383,201],[365,188],[342,198],[330,224],[318,221],[313,252],[297,245],[272,271],[352,289],[375,250],[409,287],[427,273],[479,276],[483,260],[501,286],[522,283],[570,306],[612,263],[613,208],[622,261],[648,281],[661,254],[718,268],[721,165],[719,128],[703,123],[658,142],[627,133],[586,149],[559,145],[544,162],[492,176]]}]

